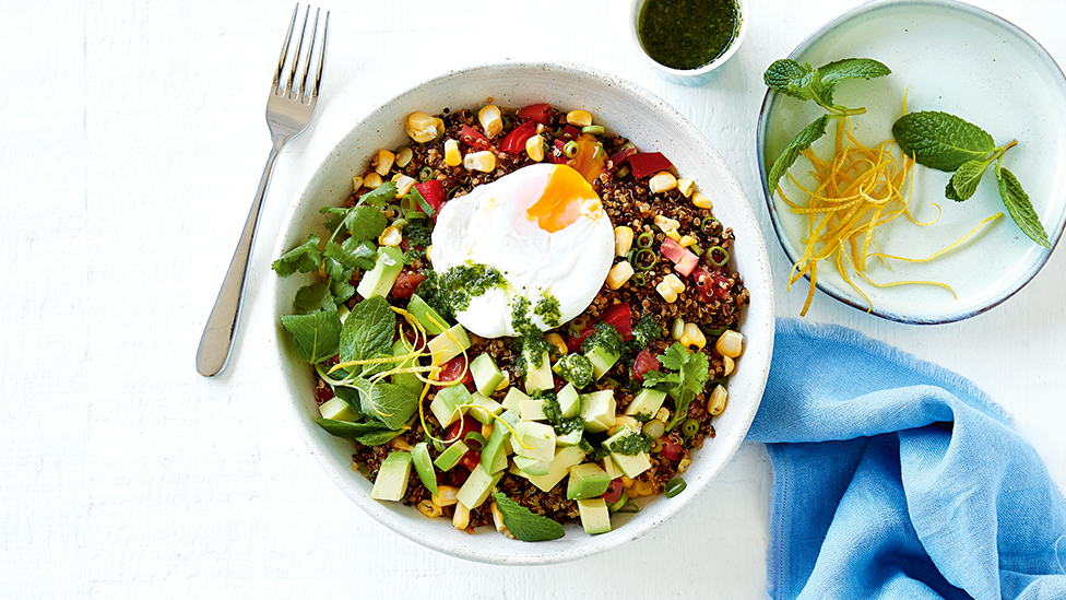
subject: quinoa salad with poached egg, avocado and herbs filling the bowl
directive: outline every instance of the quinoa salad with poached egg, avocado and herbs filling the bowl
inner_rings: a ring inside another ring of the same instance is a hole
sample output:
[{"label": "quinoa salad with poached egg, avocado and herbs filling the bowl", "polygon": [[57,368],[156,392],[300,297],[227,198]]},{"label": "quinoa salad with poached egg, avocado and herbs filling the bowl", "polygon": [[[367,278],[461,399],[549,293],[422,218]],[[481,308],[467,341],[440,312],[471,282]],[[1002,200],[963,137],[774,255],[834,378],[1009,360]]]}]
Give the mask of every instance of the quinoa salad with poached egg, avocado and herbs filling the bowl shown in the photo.
[{"label": "quinoa salad with poached egg, avocado and herbs filling the bowl", "polygon": [[273,264],[317,274],[282,326],[370,496],[535,542],[683,494],[749,301],[713,199],[580,108],[399,127]]}]

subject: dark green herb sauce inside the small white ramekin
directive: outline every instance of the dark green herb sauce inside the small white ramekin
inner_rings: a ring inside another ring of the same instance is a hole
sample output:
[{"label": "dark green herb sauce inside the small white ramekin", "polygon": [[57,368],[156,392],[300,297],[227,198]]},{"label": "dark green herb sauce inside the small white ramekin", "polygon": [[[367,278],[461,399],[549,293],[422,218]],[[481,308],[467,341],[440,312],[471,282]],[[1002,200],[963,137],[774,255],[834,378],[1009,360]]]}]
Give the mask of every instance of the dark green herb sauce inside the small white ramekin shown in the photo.
[{"label": "dark green herb sauce inside the small white ramekin", "polygon": [[741,28],[736,0],[648,0],[637,20],[640,44],[671,69],[699,69],[722,56]]}]

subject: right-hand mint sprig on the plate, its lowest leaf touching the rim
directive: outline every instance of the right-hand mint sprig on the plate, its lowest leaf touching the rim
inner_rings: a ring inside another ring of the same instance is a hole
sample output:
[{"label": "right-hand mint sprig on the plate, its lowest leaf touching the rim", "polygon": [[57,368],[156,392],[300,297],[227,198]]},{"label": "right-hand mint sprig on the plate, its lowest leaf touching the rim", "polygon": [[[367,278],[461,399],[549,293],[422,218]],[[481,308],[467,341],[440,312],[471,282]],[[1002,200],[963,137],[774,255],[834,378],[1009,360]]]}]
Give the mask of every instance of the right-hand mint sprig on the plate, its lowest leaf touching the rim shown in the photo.
[{"label": "right-hand mint sprig on the plate, its lowest leaf touching the rim", "polygon": [[892,136],[903,153],[920,165],[951,173],[944,196],[961,202],[973,197],[990,166],[995,164],[999,198],[1018,228],[1037,244],[1050,248],[1047,233],[1012,173],[1003,166],[1004,154],[1018,144],[1012,140],[996,145],[980,127],[948,113],[908,113],[892,125]]}]

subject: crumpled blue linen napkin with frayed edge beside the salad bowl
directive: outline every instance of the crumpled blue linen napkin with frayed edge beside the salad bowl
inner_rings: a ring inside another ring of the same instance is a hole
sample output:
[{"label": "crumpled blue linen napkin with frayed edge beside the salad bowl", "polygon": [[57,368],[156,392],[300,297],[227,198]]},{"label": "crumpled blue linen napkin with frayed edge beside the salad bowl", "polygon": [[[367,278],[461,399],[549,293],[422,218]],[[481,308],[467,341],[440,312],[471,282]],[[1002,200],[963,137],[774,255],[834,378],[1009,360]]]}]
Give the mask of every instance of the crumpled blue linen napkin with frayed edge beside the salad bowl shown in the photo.
[{"label": "crumpled blue linen napkin with frayed edge beside the salad bowl", "polygon": [[748,439],[773,464],[773,599],[1066,599],[1066,501],[970,381],[779,319]]}]

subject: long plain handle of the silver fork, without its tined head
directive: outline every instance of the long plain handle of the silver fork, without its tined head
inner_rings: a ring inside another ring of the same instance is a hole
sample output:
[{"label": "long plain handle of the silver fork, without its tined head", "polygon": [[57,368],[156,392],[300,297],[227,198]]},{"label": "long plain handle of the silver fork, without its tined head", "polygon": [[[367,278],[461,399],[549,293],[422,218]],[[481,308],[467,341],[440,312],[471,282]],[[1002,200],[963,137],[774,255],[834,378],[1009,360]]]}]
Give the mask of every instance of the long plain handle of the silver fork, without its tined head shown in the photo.
[{"label": "long plain handle of the silver fork, without its tined head", "polygon": [[211,316],[208,317],[208,323],[200,337],[200,348],[197,350],[197,370],[204,377],[218,375],[225,370],[229,363],[234,339],[237,337],[237,325],[240,321],[245,283],[248,281],[248,266],[251,262],[252,246],[256,244],[256,228],[259,225],[263,198],[266,196],[266,186],[270,185],[270,174],[274,169],[274,160],[277,158],[282,145],[284,145],[284,141],[279,142],[275,140],[270,156],[266,158],[263,176],[259,180],[259,189],[256,190],[256,198],[252,200],[248,217],[245,220],[245,228],[240,233],[233,260],[229,261],[229,270],[226,271],[226,279],[222,282],[218,297],[215,298],[215,305],[211,309]]}]

